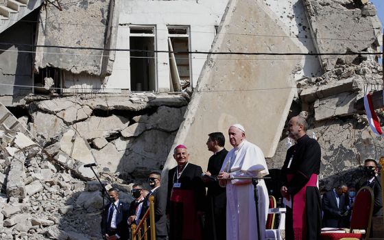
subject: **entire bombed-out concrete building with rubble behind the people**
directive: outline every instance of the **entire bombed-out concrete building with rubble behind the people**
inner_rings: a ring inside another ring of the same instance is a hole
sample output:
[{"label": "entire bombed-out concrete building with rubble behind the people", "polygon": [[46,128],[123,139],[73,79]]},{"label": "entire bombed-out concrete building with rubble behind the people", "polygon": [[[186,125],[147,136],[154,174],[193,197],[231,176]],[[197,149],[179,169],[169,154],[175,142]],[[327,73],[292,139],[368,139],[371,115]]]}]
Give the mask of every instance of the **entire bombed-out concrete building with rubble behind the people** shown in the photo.
[{"label": "entire bombed-out concrete building with rubble behind the people", "polygon": [[97,239],[102,197],[84,164],[130,201],[132,182],[175,165],[176,144],[205,169],[207,134],[235,122],[279,169],[286,121],[306,111],[322,188],[384,155],[355,104],[383,89],[370,2],[0,3],[3,239]]}]

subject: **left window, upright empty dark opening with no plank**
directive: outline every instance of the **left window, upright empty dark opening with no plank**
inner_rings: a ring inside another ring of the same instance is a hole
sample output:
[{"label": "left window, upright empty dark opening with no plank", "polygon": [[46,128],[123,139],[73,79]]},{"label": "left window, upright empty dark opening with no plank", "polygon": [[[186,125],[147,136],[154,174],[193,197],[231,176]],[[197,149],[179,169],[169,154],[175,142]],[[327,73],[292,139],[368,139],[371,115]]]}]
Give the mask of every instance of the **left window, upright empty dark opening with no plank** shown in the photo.
[{"label": "left window, upright empty dark opening with no plank", "polygon": [[[129,28],[129,35],[128,35],[128,41],[131,40],[131,37],[150,37],[154,39],[154,50],[156,51],[157,49],[157,39],[156,39],[156,25],[135,25],[135,24],[130,24],[128,25]],[[131,32],[132,29],[134,29],[135,32]],[[143,32],[136,32],[142,30]],[[146,31],[152,32],[152,33],[147,33]],[[131,48],[131,45],[130,45]],[[131,52],[129,52],[129,59],[130,59],[130,64],[131,64]],[[154,88],[152,90],[149,89],[141,92],[152,92],[152,91],[158,91],[158,70],[157,70],[157,53],[154,52]],[[131,66],[131,65],[130,65]],[[132,91],[132,69],[130,69],[130,91]]]}]

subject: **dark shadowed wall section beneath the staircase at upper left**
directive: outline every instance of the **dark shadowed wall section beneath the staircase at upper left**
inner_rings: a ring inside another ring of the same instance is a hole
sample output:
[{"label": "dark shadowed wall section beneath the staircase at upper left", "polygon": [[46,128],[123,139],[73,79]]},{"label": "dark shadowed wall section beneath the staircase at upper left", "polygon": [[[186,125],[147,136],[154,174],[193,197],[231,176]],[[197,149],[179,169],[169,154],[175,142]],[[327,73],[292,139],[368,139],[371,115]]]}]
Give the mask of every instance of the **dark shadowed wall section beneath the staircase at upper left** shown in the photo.
[{"label": "dark shadowed wall section beneath the staircase at upper left", "polygon": [[[32,93],[32,59],[34,29],[38,10],[14,24],[0,35],[0,101],[6,106],[24,104],[23,97]],[[19,86],[14,86],[19,85]]]}]

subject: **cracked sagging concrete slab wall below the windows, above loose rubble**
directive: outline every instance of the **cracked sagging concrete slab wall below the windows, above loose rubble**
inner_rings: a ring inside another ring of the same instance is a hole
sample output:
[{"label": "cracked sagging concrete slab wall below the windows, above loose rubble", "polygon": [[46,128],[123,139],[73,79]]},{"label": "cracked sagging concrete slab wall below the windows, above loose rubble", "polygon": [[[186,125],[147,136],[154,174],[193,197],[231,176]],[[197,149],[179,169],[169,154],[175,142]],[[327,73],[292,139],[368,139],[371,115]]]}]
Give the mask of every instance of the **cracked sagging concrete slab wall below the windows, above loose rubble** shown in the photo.
[{"label": "cracked sagging concrete slab wall below the windows, above loose rubble", "polygon": [[132,180],[163,169],[187,99],[152,93],[31,98],[28,128],[65,165],[78,169],[96,161],[101,171]]}]

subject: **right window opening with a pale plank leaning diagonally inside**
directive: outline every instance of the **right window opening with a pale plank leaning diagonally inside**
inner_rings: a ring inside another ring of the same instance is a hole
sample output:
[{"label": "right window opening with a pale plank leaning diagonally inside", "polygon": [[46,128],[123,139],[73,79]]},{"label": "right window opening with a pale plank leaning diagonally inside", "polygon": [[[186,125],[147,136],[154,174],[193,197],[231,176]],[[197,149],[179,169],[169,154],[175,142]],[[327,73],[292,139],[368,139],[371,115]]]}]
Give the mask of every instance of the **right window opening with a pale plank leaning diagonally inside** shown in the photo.
[{"label": "right window opening with a pale plank leaning diagonally inside", "polygon": [[[185,29],[185,34],[173,34],[173,33],[170,33],[170,30],[171,29]],[[187,38],[188,39],[188,51],[191,51],[191,26],[189,25],[167,25],[167,38],[168,39],[171,39],[171,38]],[[169,46],[169,50],[170,51],[174,51],[173,49],[173,46],[170,47]],[[180,73],[177,73],[176,75],[178,75],[178,80],[172,80],[172,69],[171,69],[171,66],[172,66],[172,58],[175,59],[176,61],[176,58],[174,57],[174,53],[170,53],[169,54],[169,66],[170,66],[170,78],[171,78],[171,81],[170,81],[170,84],[171,84],[171,91],[179,91],[178,88],[178,84],[181,85],[181,82],[180,82]],[[184,86],[180,86],[180,91],[182,91],[184,88],[187,88],[188,86],[193,86],[192,82],[192,58],[191,58],[191,53],[188,53],[188,62],[189,62],[189,83],[185,84]],[[177,68],[177,63],[176,63],[176,68]],[[177,84],[178,82],[178,84]],[[173,83],[173,85],[172,85]]]}]

